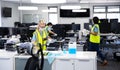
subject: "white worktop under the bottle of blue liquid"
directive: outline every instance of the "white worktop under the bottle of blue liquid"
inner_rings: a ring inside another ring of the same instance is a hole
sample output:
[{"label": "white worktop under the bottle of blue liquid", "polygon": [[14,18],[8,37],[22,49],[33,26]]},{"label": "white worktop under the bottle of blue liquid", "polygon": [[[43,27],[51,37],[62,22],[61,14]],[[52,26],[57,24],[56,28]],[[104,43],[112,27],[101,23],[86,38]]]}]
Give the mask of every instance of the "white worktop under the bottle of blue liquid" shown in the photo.
[{"label": "white worktop under the bottle of blue liquid", "polygon": [[[96,58],[96,52],[89,52],[89,51],[77,51],[76,54],[64,54],[62,51],[47,51],[57,56],[54,56],[57,59],[94,59]],[[15,58],[29,58],[30,55],[15,55]],[[47,59],[47,56],[44,56]]]}]

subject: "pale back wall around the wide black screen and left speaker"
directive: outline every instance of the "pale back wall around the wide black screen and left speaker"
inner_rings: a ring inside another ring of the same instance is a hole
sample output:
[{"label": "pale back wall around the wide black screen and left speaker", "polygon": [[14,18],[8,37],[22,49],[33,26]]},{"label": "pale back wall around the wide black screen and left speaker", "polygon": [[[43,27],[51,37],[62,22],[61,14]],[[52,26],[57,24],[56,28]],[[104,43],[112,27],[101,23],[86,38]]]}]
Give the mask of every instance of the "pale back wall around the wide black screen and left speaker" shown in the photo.
[{"label": "pale back wall around the wide black screen and left speaker", "polygon": [[[1,4],[0,4],[1,5]],[[2,2],[2,7],[12,7],[12,17],[11,18],[4,18],[2,17],[2,26],[4,27],[13,27],[15,21],[20,21],[20,17],[23,17],[23,14],[42,14],[42,19],[45,20],[45,22],[48,22],[48,13],[44,13],[41,10],[47,9],[48,6],[51,5],[36,5],[39,7],[38,11],[22,11],[22,16],[20,15],[20,11],[18,11],[17,7],[19,4],[16,3],[9,3],[9,2]],[[29,5],[29,4],[28,4]],[[73,4],[71,4],[73,5]],[[78,4],[82,8],[90,8],[90,17],[88,18],[61,18],[59,17],[59,10],[58,10],[58,23],[59,24],[71,24],[72,22],[75,22],[76,24],[81,24],[81,29],[83,29],[84,23],[88,23],[89,19],[92,18],[93,14],[93,6],[94,5],[106,5],[106,4]],[[118,4],[107,4],[107,5],[119,5]],[[58,6],[58,9],[60,8],[61,5],[53,5],[53,6]]]}]

